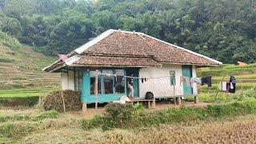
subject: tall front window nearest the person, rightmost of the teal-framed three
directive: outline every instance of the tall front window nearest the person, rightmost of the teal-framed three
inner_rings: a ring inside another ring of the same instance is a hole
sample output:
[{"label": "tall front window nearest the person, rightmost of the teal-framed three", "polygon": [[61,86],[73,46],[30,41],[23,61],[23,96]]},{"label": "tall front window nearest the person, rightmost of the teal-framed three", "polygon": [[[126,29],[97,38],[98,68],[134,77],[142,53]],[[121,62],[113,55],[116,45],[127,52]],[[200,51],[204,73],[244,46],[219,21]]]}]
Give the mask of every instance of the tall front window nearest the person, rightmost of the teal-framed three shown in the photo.
[{"label": "tall front window nearest the person, rightmost of the teal-framed three", "polygon": [[117,75],[115,79],[115,93],[125,93],[125,82],[123,81],[123,76],[125,74],[124,70],[114,70],[114,74]]}]

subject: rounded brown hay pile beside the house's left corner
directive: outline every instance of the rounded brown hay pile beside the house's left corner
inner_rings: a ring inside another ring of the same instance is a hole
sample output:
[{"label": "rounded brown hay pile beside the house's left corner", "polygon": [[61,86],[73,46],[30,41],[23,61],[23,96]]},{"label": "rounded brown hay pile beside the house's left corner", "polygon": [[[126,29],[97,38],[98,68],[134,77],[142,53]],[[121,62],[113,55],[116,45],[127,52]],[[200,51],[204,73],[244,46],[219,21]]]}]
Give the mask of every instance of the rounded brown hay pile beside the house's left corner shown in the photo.
[{"label": "rounded brown hay pile beside the house's left corner", "polygon": [[[63,90],[63,96],[66,111],[74,111],[82,109],[81,97],[78,91]],[[62,90],[51,92],[42,99],[42,107],[44,110],[64,111],[62,102]]]}]

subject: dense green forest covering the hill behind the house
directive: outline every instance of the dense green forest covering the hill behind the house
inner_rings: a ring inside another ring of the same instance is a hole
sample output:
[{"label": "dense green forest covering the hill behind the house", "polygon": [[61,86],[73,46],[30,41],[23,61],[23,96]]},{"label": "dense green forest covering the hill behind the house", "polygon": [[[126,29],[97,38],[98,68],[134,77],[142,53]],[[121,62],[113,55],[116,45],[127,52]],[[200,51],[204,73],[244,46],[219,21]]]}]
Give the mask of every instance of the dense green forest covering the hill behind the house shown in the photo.
[{"label": "dense green forest covering the hill behind the house", "polygon": [[67,54],[108,29],[224,63],[256,59],[254,0],[0,0],[0,32],[43,54]]}]

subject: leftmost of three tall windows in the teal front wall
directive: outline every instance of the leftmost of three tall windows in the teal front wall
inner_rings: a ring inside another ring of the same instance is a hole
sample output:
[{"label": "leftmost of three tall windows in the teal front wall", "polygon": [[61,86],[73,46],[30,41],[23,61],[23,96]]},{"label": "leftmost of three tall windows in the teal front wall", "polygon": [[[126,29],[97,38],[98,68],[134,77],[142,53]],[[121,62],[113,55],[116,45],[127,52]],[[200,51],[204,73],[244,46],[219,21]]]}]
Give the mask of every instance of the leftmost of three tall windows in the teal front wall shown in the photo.
[{"label": "leftmost of three tall windows in the teal front wall", "polygon": [[[90,94],[96,94],[95,91],[98,91],[98,94],[101,94],[101,75],[98,73],[98,70],[90,71]],[[98,79],[98,81],[96,80],[96,78]],[[98,90],[96,90],[96,86],[98,86]]]}]

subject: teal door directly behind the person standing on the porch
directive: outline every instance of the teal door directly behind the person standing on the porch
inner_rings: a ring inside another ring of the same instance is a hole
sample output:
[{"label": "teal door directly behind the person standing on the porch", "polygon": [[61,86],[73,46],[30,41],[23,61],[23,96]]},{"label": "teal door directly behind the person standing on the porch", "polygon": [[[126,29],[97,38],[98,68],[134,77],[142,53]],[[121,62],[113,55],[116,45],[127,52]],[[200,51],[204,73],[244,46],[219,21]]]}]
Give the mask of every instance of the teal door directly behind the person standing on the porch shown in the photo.
[{"label": "teal door directly behind the person standing on the porch", "polygon": [[[133,74],[134,77],[138,77],[138,68],[126,69],[126,75]],[[133,79],[134,85],[134,97],[138,97],[138,78]],[[127,88],[127,95],[130,93],[129,88]]]}]

